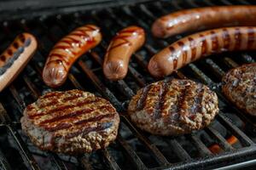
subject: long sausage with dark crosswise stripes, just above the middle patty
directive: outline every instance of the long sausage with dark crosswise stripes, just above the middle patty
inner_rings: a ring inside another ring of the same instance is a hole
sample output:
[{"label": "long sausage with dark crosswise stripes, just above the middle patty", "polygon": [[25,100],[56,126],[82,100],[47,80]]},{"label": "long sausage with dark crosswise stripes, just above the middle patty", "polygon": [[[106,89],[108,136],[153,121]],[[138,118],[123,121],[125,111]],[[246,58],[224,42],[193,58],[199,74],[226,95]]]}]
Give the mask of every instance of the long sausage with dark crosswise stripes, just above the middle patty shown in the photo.
[{"label": "long sausage with dark crosswise stripes, just above the middle patty", "polygon": [[256,49],[256,27],[225,27],[202,31],[184,37],[155,54],[148,63],[148,71],[154,77],[164,77],[201,57],[246,49]]}]

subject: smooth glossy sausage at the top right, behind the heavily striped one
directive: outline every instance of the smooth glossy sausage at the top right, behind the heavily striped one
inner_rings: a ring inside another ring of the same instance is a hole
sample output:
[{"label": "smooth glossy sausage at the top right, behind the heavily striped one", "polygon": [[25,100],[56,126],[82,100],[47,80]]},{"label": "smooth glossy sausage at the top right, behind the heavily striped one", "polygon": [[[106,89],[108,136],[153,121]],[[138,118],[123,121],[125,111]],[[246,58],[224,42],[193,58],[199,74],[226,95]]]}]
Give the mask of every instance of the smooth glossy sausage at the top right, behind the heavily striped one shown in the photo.
[{"label": "smooth glossy sausage at the top right, behind the heavily striped one", "polygon": [[171,37],[186,31],[225,26],[256,26],[256,6],[236,5],[181,10],[155,20],[154,37]]}]

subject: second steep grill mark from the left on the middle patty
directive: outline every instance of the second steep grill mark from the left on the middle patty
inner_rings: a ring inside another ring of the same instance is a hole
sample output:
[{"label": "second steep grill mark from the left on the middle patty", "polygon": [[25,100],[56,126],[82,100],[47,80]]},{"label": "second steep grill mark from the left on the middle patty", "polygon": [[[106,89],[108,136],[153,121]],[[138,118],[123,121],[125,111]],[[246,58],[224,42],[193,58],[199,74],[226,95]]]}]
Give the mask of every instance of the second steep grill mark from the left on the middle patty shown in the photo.
[{"label": "second steep grill mark from the left on the middle patty", "polygon": [[157,103],[154,106],[154,119],[159,119],[162,116],[162,112],[164,110],[164,104],[165,104],[165,98],[166,94],[168,92],[168,82],[167,80],[164,80],[160,86],[160,91],[159,91],[159,97],[157,100]]}]

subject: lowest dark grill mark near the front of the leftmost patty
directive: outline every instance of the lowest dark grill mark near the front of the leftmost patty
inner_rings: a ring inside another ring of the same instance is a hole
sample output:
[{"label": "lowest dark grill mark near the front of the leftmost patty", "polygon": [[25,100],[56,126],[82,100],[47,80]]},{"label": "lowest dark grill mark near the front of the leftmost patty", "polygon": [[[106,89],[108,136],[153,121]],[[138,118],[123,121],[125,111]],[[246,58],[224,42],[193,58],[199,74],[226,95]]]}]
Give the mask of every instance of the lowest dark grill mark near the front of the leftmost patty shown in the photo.
[{"label": "lowest dark grill mark near the front of the leftmost patty", "polygon": [[[113,126],[113,122],[102,122],[102,123],[98,123],[98,125],[96,127],[86,127],[86,128],[82,128],[81,130],[75,132],[75,133],[69,133],[67,134],[66,136],[66,139],[72,139],[78,135],[80,135],[81,133],[84,135],[90,133],[90,132],[93,132],[93,131],[102,131],[102,130],[105,130],[109,127],[112,127]],[[84,126],[85,127],[85,126]]]}]

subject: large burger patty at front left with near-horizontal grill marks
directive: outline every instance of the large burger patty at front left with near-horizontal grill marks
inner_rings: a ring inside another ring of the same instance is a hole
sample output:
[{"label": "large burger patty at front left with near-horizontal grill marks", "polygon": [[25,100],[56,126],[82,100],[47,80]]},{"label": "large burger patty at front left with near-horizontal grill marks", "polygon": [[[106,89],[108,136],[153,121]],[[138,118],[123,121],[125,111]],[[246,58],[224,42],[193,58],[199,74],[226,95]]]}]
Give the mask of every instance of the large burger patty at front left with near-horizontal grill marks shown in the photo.
[{"label": "large burger patty at front left with near-horizontal grill marks", "polygon": [[26,107],[20,122],[41,150],[78,154],[116,139],[119,114],[106,99],[70,90],[41,96]]}]

